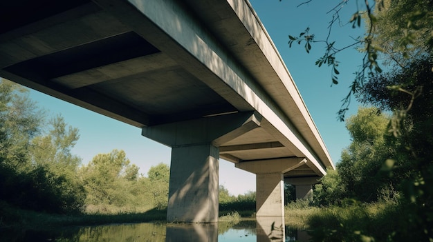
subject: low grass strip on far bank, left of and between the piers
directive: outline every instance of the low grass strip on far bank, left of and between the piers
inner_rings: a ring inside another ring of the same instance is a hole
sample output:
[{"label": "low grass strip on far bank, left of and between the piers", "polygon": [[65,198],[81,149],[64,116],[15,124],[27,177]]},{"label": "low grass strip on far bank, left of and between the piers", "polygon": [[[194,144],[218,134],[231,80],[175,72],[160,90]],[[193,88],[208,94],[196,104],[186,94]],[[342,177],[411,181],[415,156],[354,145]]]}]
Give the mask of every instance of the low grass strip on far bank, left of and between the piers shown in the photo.
[{"label": "low grass strip on far bank, left of and between the piers", "polygon": [[[147,209],[147,210],[146,210]],[[221,211],[219,220],[239,221],[241,218],[253,218],[255,211]],[[46,231],[68,226],[103,225],[109,223],[145,223],[166,221],[167,210],[155,208],[116,208],[112,206],[90,206],[80,214],[48,214],[23,210],[0,201],[0,231]]]}]

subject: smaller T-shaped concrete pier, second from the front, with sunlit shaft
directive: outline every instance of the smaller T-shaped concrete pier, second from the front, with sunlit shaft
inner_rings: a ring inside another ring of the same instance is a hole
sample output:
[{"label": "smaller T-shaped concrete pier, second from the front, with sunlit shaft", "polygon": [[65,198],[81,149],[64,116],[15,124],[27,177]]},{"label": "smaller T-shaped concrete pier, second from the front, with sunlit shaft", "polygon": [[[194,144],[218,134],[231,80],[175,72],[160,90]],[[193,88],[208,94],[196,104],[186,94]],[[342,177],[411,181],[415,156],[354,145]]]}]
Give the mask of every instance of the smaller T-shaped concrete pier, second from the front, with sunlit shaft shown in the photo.
[{"label": "smaller T-shaped concrete pier, second from the front, with sunlit shaft", "polygon": [[304,163],[304,158],[284,158],[235,164],[256,174],[256,216],[284,217],[284,173]]}]

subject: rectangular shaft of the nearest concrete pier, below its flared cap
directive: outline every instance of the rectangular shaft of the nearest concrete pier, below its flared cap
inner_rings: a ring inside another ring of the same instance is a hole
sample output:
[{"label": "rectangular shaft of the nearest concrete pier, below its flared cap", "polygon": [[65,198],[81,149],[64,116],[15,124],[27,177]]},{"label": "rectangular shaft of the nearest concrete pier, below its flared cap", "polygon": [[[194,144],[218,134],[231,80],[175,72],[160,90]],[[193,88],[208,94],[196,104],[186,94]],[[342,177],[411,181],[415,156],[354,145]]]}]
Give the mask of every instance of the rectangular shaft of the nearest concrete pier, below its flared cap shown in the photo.
[{"label": "rectangular shaft of the nearest concrete pier, below its flared cap", "polygon": [[217,222],[218,180],[218,148],[210,143],[173,148],[167,221]]}]

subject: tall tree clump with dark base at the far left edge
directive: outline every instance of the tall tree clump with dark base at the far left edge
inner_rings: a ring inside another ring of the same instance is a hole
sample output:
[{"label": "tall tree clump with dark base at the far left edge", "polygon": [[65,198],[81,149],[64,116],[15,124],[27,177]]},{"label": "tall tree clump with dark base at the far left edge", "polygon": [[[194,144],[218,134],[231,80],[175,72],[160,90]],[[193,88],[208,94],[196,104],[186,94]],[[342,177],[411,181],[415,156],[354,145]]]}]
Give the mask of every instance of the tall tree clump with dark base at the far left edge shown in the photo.
[{"label": "tall tree clump with dark base at the far left edge", "polygon": [[28,99],[28,90],[1,79],[0,199],[21,208],[76,212],[83,202],[75,176],[80,159],[68,148],[77,139],[77,130],[71,137],[60,132],[66,123],[57,117],[53,129],[44,134],[45,119]]}]

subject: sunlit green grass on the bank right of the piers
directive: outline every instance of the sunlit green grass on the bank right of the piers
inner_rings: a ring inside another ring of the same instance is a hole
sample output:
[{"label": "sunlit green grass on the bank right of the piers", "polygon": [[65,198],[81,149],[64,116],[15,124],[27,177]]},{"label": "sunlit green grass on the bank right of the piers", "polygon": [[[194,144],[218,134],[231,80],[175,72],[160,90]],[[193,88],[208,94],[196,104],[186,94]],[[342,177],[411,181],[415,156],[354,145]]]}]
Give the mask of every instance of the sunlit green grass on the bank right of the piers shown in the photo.
[{"label": "sunlit green grass on the bank right of the piers", "polygon": [[308,230],[313,241],[387,241],[398,223],[396,203],[353,203],[324,208],[288,204],[285,223]]}]

